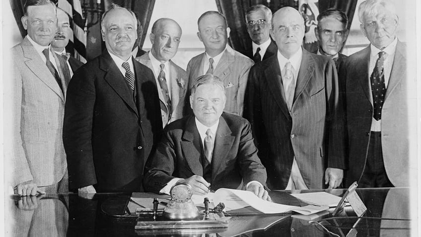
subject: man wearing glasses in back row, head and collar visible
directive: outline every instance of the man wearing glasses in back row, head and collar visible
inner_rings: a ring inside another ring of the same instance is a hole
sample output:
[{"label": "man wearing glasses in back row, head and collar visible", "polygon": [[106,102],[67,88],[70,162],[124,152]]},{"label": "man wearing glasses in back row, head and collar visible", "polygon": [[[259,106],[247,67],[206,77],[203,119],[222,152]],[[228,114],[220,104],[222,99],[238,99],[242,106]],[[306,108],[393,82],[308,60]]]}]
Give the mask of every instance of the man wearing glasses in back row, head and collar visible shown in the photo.
[{"label": "man wearing glasses in back row, head and collar visible", "polygon": [[249,56],[255,63],[259,63],[278,51],[270,37],[272,11],[267,6],[257,4],[246,11],[247,32],[252,40],[252,51]]}]

